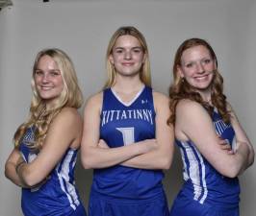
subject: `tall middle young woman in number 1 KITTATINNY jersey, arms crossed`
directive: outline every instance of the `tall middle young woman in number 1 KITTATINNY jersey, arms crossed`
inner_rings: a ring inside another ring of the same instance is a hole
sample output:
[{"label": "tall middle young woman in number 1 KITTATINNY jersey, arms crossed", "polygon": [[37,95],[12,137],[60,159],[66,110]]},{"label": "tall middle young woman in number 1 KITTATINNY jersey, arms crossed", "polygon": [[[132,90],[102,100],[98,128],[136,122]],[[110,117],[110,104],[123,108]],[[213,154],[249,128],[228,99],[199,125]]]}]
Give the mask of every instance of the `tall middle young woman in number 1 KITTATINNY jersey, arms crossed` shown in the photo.
[{"label": "tall middle young woman in number 1 KITTATINNY jersey, arms crossed", "polygon": [[107,50],[109,80],[86,105],[82,163],[93,168],[89,214],[167,215],[163,169],[173,152],[168,99],[150,87],[148,49],[134,27],[121,27]]}]

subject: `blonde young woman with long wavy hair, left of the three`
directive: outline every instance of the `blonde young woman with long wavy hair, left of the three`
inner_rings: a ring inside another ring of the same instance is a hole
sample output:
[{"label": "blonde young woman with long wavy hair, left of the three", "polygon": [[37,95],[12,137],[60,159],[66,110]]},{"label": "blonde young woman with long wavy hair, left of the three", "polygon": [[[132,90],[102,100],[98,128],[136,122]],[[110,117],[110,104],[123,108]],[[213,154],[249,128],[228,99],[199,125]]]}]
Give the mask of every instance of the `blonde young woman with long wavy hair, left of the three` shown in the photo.
[{"label": "blonde young woman with long wavy hair, left of the three", "polygon": [[85,216],[74,184],[83,101],[71,60],[59,49],[38,53],[28,120],[14,134],[6,177],[22,187],[26,216]]}]

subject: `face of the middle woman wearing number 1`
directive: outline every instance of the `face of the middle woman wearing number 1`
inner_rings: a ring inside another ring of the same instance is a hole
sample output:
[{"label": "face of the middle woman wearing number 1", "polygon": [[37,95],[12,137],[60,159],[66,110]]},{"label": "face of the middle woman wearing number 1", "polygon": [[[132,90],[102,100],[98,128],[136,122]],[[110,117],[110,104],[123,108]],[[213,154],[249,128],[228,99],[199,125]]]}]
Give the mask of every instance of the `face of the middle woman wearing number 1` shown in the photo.
[{"label": "face of the middle woman wearing number 1", "polygon": [[145,55],[140,41],[135,36],[119,36],[115,41],[110,61],[116,75],[136,76],[140,74]]}]

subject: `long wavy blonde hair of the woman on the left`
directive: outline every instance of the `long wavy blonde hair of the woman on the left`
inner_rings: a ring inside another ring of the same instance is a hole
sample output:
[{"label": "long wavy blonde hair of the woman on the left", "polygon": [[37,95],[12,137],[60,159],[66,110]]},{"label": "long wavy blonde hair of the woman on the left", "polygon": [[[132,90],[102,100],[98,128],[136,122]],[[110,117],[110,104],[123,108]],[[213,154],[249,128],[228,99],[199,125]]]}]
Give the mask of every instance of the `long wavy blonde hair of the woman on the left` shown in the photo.
[{"label": "long wavy blonde hair of the woman on the left", "polygon": [[[54,106],[49,109],[46,109],[46,101],[40,98],[35,84],[35,73],[38,69],[38,61],[43,56],[49,56],[56,62],[64,81],[64,89],[62,93],[58,97]],[[29,143],[29,146],[33,149],[39,150],[42,147],[47,130],[54,116],[56,116],[62,110],[62,108],[65,107],[80,108],[83,103],[83,94],[78,85],[78,80],[72,61],[64,53],[64,51],[57,48],[44,49],[38,52],[33,66],[31,86],[33,95],[29,117],[26,122],[18,127],[14,133],[13,141],[14,146],[17,148],[28,128],[33,127],[35,132],[35,140],[32,143]]]}]

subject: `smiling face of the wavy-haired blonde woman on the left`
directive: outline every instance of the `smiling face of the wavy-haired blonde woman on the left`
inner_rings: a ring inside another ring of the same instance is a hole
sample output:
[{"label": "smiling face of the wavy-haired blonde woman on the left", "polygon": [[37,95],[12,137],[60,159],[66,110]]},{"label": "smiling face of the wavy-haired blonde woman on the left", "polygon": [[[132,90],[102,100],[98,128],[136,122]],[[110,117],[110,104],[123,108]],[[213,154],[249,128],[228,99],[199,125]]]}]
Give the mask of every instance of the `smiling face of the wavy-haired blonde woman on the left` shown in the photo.
[{"label": "smiling face of the wavy-haired blonde woman on the left", "polygon": [[39,96],[46,100],[48,105],[61,95],[64,89],[63,77],[56,62],[51,57],[45,55],[38,60],[35,84]]}]

